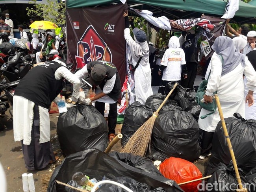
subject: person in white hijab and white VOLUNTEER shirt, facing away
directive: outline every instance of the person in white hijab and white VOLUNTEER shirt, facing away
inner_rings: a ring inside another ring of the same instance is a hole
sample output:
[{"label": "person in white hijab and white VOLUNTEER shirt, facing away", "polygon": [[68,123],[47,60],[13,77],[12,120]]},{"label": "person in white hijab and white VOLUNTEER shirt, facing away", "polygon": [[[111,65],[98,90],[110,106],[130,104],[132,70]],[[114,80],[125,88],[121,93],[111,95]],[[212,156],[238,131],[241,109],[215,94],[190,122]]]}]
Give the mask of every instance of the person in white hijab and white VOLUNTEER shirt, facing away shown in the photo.
[{"label": "person in white hijab and white VOLUNTEER shirt, facing away", "polygon": [[163,72],[162,81],[159,86],[158,92],[164,94],[165,85],[171,81],[180,83],[181,73],[184,79],[187,78],[187,66],[185,60],[185,53],[180,48],[178,37],[173,36],[169,40],[169,48],[163,55],[161,66],[158,75]]}]

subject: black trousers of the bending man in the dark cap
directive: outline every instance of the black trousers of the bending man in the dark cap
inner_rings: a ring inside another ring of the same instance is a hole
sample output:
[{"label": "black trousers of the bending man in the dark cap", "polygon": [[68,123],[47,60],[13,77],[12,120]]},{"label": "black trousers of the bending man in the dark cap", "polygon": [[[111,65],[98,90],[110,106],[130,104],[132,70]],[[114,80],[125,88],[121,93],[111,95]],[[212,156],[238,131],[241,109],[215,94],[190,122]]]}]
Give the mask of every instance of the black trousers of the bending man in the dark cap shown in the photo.
[{"label": "black trousers of the bending man in the dark cap", "polygon": [[[95,102],[95,108],[104,116],[105,103]],[[117,102],[109,103],[108,134],[115,133],[116,125],[117,125]]]}]

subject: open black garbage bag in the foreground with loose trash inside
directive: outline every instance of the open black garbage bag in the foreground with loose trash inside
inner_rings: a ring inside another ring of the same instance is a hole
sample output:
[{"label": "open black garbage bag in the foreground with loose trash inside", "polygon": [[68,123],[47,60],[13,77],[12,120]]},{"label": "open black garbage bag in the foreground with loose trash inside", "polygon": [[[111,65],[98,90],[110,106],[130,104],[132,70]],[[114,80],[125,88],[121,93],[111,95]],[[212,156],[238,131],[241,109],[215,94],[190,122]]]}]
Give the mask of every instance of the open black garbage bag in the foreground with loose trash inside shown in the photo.
[{"label": "open black garbage bag in the foreground with loose trash inside", "polygon": [[[65,186],[57,184],[56,180],[67,183],[78,171],[98,181],[105,176],[111,180],[115,179],[113,181],[126,183],[133,189],[139,189],[134,190],[135,192],[183,191],[175,181],[163,177],[153,163],[145,157],[117,152],[108,155],[97,149],[80,151],[67,156],[54,170],[47,191],[65,192]],[[106,190],[105,187],[102,188],[104,190],[100,187],[98,192],[120,192],[120,190],[110,190],[108,187]]]}]

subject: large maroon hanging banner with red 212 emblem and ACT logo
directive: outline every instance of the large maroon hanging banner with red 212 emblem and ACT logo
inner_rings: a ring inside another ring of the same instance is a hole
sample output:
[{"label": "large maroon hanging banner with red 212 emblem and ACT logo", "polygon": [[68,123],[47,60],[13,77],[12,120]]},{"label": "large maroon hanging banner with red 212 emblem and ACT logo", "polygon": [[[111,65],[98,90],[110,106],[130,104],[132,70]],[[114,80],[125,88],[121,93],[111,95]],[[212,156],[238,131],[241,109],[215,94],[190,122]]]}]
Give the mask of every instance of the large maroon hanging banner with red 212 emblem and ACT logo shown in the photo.
[{"label": "large maroon hanging banner with red 212 emblem and ACT logo", "polygon": [[123,83],[126,74],[125,7],[120,4],[99,8],[68,8],[68,62],[74,63],[76,68],[95,60],[112,62]]}]

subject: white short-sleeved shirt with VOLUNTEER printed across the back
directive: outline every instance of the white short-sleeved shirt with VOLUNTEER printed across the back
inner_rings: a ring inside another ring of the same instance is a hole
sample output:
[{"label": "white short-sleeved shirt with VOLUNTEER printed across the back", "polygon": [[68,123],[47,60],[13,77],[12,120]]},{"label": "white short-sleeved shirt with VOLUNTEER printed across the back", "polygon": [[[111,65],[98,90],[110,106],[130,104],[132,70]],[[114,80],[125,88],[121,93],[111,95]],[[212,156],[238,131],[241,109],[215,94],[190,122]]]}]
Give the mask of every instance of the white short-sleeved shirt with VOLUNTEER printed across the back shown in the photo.
[{"label": "white short-sleeved shirt with VOLUNTEER printed across the back", "polygon": [[185,65],[185,53],[181,48],[169,48],[163,55],[161,65],[167,66],[163,70],[163,81],[180,81],[182,68]]}]

